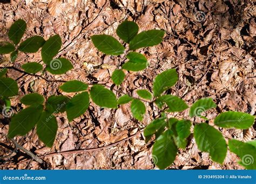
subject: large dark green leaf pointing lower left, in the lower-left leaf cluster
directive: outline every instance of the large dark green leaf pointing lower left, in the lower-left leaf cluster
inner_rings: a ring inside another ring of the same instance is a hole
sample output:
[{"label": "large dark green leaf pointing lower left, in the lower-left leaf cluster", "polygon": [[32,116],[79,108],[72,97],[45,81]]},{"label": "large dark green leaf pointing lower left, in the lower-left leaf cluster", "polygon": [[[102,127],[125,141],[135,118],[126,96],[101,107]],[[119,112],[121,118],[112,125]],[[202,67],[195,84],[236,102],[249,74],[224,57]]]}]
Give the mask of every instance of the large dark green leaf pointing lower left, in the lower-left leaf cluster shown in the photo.
[{"label": "large dark green leaf pointing lower left, in the lower-left leaf cluster", "polygon": [[26,135],[39,121],[42,112],[43,105],[33,105],[12,116],[8,136],[14,138]]}]

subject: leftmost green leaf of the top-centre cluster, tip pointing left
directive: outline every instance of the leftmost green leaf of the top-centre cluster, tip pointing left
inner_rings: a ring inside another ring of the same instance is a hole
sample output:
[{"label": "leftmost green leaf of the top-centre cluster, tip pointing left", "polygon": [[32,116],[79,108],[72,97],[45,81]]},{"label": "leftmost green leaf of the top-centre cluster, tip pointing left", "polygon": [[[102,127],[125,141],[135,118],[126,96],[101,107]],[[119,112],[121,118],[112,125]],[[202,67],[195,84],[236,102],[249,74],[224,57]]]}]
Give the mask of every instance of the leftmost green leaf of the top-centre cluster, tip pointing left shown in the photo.
[{"label": "leftmost green leaf of the top-centre cluster, tip pointing left", "polygon": [[124,46],[109,35],[98,34],[92,36],[91,39],[95,47],[105,54],[120,55],[124,53]]}]

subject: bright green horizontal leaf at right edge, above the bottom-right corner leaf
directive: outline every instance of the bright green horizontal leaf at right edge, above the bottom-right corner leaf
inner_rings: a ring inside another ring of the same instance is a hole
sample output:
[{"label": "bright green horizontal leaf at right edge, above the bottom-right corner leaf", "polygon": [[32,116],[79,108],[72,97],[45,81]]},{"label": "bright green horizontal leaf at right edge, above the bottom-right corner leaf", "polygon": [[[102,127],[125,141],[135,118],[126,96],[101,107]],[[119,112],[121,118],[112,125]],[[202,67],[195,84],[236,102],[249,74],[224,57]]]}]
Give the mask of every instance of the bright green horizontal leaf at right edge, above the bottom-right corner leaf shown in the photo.
[{"label": "bright green horizontal leaf at right edge, above the bottom-right corner leaf", "polygon": [[214,124],[223,128],[248,129],[254,123],[254,116],[245,112],[222,112],[214,119]]}]

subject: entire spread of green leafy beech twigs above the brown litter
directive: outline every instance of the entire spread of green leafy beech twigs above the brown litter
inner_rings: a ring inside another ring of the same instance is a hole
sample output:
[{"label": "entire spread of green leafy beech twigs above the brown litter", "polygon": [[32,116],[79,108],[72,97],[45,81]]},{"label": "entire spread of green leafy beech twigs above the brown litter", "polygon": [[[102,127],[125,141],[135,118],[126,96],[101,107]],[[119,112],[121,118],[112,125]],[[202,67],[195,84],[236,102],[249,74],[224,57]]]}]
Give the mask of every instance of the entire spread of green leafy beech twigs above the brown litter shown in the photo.
[{"label": "entire spread of green leafy beech twigs above the brown litter", "polygon": [[[17,20],[8,33],[10,41],[0,43],[0,54],[11,54],[14,62],[19,52],[34,53],[41,49],[44,66],[39,62],[28,62],[21,66],[26,74],[36,74],[46,70],[51,74],[65,74],[72,69],[72,63],[65,58],[56,58],[62,41],[58,34],[44,40],[40,36],[34,36],[20,43],[26,30],[24,20]],[[91,37],[95,47],[100,52],[109,55],[124,54],[127,61],[114,70],[111,78],[118,86],[125,79],[124,70],[133,72],[143,70],[149,66],[146,57],[136,52],[138,48],[158,45],[163,40],[165,32],[162,30],[149,30],[138,33],[136,23],[125,20],[117,28],[117,35],[123,40],[122,44],[112,36],[100,34]],[[20,43],[20,44],[19,44]],[[125,53],[124,45],[129,45]],[[3,68],[3,67],[2,67]],[[18,84],[14,79],[5,77],[7,69],[0,72],[0,95],[5,102],[3,115],[10,114],[10,98],[18,95]],[[213,161],[222,164],[226,157],[227,149],[240,157],[239,164],[247,169],[256,169],[256,141],[244,143],[238,140],[226,140],[217,129],[249,129],[254,124],[254,116],[244,112],[227,111],[220,113],[214,119],[214,127],[204,123],[191,122],[188,119],[167,118],[169,112],[180,112],[190,108],[190,117],[195,116],[206,119],[202,112],[216,108],[217,105],[211,98],[202,98],[192,104],[191,107],[178,96],[166,94],[165,91],[174,86],[178,81],[176,69],[166,69],[156,76],[153,81],[152,91],[138,89],[140,98],[123,95],[117,99],[114,93],[102,85],[95,84],[90,89],[88,84],[71,80],[64,82],[59,89],[66,93],[75,93],[72,97],[53,95],[44,99],[38,93],[30,93],[21,98],[21,103],[26,108],[13,115],[9,124],[8,136],[13,138],[17,135],[25,136],[36,126],[36,132],[40,140],[46,146],[51,147],[56,137],[58,125],[56,115],[65,112],[69,121],[85,113],[90,100],[103,108],[119,108],[120,104],[130,103],[134,118],[142,121],[146,112],[145,101],[156,104],[161,111],[161,116],[153,119],[144,130],[145,141],[153,141],[152,157],[154,164],[160,169],[169,167],[176,159],[179,149],[185,149],[188,137],[194,136],[200,151],[208,152]],[[59,82],[59,81],[58,81]],[[61,82],[61,81],[60,81]],[[8,88],[6,88],[8,87]],[[151,93],[152,92],[152,93]],[[143,100],[144,99],[144,100]],[[143,100],[143,101],[142,101]],[[193,125],[193,132],[191,132]]]}]

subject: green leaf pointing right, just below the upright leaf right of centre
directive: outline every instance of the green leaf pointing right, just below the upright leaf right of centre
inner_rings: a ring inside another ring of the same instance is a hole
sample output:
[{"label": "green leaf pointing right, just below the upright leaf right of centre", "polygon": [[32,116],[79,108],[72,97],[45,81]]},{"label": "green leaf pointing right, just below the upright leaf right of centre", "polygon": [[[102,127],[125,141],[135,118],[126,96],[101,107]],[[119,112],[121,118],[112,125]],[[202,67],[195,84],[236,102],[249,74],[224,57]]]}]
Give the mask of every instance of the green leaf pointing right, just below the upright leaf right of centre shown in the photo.
[{"label": "green leaf pointing right, just below the upright leaf right of centre", "polygon": [[161,104],[163,106],[163,103],[166,103],[168,106],[169,112],[180,112],[188,108],[187,104],[178,96],[173,96],[173,95],[163,95],[157,98],[156,100],[157,104]]}]

